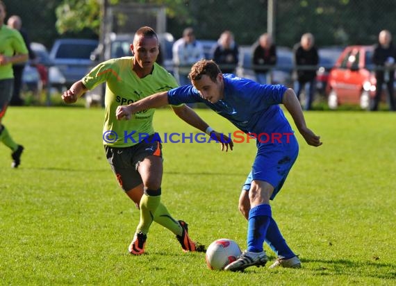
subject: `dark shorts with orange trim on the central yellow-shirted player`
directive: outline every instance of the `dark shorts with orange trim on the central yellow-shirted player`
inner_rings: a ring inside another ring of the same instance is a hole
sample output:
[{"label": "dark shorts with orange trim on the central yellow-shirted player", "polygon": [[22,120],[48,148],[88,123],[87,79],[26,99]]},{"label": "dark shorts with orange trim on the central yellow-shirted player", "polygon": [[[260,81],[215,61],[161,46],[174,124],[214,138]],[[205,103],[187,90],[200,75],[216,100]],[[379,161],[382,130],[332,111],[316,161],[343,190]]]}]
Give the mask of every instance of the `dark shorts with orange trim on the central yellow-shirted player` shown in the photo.
[{"label": "dark shorts with orange trim on the central yellow-shirted player", "polygon": [[159,135],[150,135],[147,140],[129,147],[112,147],[105,145],[106,158],[117,177],[118,183],[125,192],[142,183],[138,167],[142,160],[150,155],[163,158],[162,144]]}]

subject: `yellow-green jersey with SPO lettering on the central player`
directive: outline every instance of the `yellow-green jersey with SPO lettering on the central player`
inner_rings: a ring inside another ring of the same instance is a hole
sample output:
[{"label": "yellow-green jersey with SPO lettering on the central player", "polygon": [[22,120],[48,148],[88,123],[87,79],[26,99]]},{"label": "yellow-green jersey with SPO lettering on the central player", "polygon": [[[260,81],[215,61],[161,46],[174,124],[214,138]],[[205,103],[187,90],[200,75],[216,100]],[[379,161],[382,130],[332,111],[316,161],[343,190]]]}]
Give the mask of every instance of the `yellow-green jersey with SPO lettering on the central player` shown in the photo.
[{"label": "yellow-green jersey with SPO lettering on the central player", "polygon": [[133,146],[142,141],[143,135],[154,134],[154,108],[142,110],[132,115],[130,120],[117,120],[115,110],[118,106],[177,87],[174,77],[156,63],[151,74],[139,78],[133,72],[133,57],[102,62],[82,81],[88,90],[106,82],[103,138],[104,144],[115,147]]}]

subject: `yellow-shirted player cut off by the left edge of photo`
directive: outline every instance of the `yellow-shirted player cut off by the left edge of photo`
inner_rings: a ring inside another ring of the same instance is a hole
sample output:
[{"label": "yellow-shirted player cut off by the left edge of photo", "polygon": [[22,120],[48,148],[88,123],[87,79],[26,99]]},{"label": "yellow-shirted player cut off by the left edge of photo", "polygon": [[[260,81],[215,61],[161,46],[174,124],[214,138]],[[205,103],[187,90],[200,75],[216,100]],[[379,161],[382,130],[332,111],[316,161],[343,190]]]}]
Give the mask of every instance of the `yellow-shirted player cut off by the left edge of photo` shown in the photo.
[{"label": "yellow-shirted player cut off by the left edge of photo", "polygon": [[5,18],[6,6],[0,0],[0,142],[13,151],[12,167],[17,168],[21,163],[24,147],[14,142],[6,126],[1,124],[1,119],[6,115],[8,103],[13,96],[13,64],[25,62],[28,59],[28,49],[18,31],[3,24]]}]

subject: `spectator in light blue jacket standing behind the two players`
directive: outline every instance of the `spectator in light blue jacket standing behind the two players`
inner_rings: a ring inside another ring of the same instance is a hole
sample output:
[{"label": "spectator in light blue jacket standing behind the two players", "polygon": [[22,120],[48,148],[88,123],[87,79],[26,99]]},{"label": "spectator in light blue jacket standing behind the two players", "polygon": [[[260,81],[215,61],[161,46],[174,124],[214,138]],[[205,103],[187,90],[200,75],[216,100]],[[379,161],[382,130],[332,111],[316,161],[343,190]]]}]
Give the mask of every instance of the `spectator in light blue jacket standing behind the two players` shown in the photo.
[{"label": "spectator in light blue jacket standing behind the two players", "polygon": [[205,58],[204,47],[195,39],[193,28],[185,28],[183,37],[174,42],[172,47],[174,68],[174,77],[179,85],[189,85],[188,73],[191,66]]}]

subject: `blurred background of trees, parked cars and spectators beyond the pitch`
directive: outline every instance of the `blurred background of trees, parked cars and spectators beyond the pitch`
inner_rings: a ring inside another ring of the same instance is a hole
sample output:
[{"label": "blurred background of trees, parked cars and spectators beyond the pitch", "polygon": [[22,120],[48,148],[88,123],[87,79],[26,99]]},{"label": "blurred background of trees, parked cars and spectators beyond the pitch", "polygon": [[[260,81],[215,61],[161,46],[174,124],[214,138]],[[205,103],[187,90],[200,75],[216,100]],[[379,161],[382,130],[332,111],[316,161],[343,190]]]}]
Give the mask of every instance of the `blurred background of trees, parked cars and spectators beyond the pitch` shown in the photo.
[{"label": "blurred background of trees, parked cars and spectators beyond the pitch", "polygon": [[[395,110],[393,0],[4,2],[31,48],[13,105],[42,93],[49,104],[100,60],[130,56],[131,31],[147,25],[160,37],[158,61],[181,84],[208,58],[224,73],[293,87],[305,110]],[[87,94],[87,106],[100,96]]]}]

